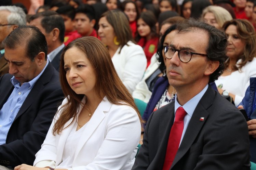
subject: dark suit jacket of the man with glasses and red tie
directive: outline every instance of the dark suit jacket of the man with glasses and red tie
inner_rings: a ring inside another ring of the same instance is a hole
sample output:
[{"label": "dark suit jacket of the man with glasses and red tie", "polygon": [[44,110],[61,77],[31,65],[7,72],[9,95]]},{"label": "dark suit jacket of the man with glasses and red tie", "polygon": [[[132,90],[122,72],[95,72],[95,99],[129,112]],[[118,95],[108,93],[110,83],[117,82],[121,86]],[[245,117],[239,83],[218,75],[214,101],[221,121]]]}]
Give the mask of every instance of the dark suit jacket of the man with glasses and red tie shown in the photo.
[{"label": "dark suit jacket of the man with glasses and red tie", "polygon": [[[162,169],[173,122],[174,102],[150,115],[133,170]],[[211,87],[194,110],[171,167],[192,169],[250,170],[246,121],[234,105]]]}]

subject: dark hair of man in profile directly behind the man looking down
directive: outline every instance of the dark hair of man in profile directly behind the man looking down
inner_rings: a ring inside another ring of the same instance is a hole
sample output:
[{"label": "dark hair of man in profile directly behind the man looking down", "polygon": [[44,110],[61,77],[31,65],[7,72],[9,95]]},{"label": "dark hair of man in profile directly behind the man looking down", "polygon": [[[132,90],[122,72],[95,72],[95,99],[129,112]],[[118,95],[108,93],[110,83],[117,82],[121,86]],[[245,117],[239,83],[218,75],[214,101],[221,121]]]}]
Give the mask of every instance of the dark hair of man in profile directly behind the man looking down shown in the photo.
[{"label": "dark hair of man in profile directly behind the man looking down", "polygon": [[42,17],[41,26],[45,29],[45,32],[50,33],[54,28],[58,28],[59,40],[60,42],[64,42],[65,25],[63,18],[55,11],[43,11],[32,15],[30,21],[40,17]]}]

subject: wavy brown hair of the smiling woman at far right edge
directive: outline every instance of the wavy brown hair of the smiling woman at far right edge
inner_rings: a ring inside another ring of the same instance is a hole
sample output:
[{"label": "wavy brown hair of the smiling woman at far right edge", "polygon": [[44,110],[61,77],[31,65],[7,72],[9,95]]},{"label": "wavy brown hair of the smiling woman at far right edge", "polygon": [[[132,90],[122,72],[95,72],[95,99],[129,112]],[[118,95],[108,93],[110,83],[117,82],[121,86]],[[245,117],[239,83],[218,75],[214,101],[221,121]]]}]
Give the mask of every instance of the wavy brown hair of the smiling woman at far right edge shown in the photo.
[{"label": "wavy brown hair of the smiling woman at far right edge", "polygon": [[[226,30],[230,25],[234,25],[237,27],[238,37],[241,38],[243,41],[245,41],[243,54],[242,56],[239,56],[237,58],[237,61],[241,59],[242,62],[238,64],[239,65],[238,67],[236,65],[232,66],[233,69],[240,71],[241,68],[248,61],[252,61],[256,55],[256,40],[255,40],[256,32],[251,22],[249,22],[246,19],[233,19],[231,21],[226,21],[222,28]],[[229,65],[229,58],[225,62],[225,68],[227,68],[228,65]]]}]

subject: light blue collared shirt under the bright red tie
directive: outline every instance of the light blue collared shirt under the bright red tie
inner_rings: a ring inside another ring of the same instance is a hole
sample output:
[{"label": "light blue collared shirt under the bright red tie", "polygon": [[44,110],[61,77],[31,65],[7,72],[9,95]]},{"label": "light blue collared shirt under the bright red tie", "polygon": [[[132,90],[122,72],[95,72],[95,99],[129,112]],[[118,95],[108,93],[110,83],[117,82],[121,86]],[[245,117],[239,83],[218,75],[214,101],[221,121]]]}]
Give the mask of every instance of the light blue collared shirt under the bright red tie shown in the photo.
[{"label": "light blue collared shirt under the bright red tie", "polygon": [[184,137],[184,134],[187,130],[187,127],[188,127],[188,124],[190,122],[190,119],[193,115],[193,112],[194,110],[196,109],[199,101],[201,100],[201,98],[203,97],[204,93],[206,92],[207,88],[208,88],[208,84],[204,87],[204,89],[198,93],[197,95],[195,95],[193,98],[191,98],[187,103],[185,103],[183,106],[181,106],[179,104],[179,102],[177,101],[177,98],[178,96],[175,97],[175,104],[174,104],[174,113],[176,114],[176,110],[179,108],[179,107],[183,107],[183,109],[187,112],[187,114],[185,115],[184,117],[184,128],[183,128],[183,132],[182,132],[182,135],[181,135],[181,139],[180,139],[180,142],[179,142],[179,145]]}]

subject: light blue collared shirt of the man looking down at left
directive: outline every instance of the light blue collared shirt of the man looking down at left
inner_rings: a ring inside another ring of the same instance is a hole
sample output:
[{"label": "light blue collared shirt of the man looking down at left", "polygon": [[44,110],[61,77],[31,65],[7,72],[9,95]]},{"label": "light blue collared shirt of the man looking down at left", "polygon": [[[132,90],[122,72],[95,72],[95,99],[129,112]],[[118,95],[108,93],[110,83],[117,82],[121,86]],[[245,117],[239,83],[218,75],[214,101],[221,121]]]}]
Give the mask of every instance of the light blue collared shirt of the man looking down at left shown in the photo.
[{"label": "light blue collared shirt of the man looking down at left", "polygon": [[14,86],[12,94],[9,96],[2,109],[0,110],[0,145],[6,142],[6,137],[8,131],[19,111],[29,92],[43,74],[45,68],[47,67],[49,61],[47,60],[46,65],[44,66],[41,73],[30,80],[25,82],[20,86],[20,83],[14,78],[11,78],[11,83]]}]

